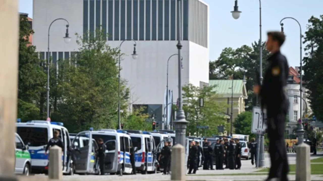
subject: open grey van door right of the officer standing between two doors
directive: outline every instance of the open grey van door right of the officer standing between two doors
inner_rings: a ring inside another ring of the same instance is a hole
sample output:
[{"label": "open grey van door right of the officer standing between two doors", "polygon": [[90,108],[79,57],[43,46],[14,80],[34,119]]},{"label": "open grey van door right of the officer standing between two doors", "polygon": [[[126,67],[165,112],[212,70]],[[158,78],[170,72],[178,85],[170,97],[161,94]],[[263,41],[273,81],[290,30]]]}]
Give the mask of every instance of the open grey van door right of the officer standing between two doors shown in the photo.
[{"label": "open grey van door right of the officer standing between two doors", "polygon": [[[107,147],[105,151],[104,172],[115,173],[118,170],[118,145],[116,140],[109,140],[104,143]],[[115,170],[115,172],[114,172]],[[103,172],[101,170],[101,172]]]}]

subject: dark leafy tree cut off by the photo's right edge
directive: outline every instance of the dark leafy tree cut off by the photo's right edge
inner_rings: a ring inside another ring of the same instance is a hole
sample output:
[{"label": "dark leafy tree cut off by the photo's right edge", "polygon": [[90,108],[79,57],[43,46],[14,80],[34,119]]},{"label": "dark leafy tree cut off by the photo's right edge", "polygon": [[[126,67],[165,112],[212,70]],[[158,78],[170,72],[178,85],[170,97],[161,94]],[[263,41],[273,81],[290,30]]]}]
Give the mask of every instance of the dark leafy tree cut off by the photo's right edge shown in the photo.
[{"label": "dark leafy tree cut off by the photo's right edge", "polygon": [[308,43],[303,58],[303,81],[314,115],[323,120],[323,15],[318,18],[312,16],[308,23],[303,42]]}]

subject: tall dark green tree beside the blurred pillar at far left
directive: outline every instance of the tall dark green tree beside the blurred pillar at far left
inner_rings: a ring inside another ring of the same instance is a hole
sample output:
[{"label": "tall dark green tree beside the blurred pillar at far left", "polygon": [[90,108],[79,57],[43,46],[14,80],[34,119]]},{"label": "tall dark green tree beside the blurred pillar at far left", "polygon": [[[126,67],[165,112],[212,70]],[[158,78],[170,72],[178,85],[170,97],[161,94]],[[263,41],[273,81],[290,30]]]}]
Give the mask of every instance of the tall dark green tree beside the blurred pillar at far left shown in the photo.
[{"label": "tall dark green tree beside the blurred pillar at far left", "polygon": [[17,117],[23,121],[41,119],[44,113],[40,108],[43,106],[41,97],[46,92],[46,74],[35,46],[30,45],[28,39],[33,33],[27,18],[20,16]]}]

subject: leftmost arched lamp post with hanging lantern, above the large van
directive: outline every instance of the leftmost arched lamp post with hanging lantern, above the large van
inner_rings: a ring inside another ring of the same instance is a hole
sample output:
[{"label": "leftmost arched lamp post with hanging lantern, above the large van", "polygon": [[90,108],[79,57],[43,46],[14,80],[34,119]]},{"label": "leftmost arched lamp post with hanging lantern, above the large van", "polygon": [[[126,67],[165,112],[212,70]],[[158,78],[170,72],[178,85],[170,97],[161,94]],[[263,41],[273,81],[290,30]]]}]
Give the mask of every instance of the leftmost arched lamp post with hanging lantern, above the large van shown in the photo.
[{"label": "leftmost arched lamp post with hanging lantern, above the large van", "polygon": [[57,21],[57,20],[64,20],[66,21],[67,25],[66,25],[66,33],[65,33],[65,37],[64,38],[64,42],[65,43],[69,43],[71,41],[71,37],[69,37],[68,34],[68,27],[69,27],[69,23],[66,19],[64,18],[57,18],[54,21],[52,21],[52,23],[49,25],[48,27],[48,44],[47,44],[47,118],[49,117],[49,32],[50,32],[50,27],[52,26],[52,24]]}]

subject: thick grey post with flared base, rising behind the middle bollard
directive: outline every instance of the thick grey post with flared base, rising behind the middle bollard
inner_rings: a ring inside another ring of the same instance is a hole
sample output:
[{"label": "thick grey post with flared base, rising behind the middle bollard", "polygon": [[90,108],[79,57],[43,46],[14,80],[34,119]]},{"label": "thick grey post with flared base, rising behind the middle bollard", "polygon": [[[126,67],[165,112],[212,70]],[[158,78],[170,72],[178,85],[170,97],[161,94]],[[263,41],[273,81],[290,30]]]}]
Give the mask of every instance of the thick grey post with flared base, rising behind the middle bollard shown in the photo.
[{"label": "thick grey post with flared base, rising behind the middle bollard", "polygon": [[181,144],[185,147],[186,143],[186,125],[188,121],[185,120],[184,110],[182,109],[182,68],[181,68],[181,7],[182,1],[177,0],[177,39],[178,43],[176,45],[178,50],[178,110],[176,113],[176,121],[175,121],[175,130],[176,130],[176,137],[175,142]]}]

